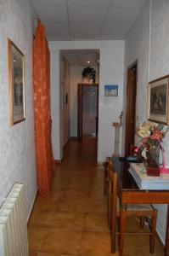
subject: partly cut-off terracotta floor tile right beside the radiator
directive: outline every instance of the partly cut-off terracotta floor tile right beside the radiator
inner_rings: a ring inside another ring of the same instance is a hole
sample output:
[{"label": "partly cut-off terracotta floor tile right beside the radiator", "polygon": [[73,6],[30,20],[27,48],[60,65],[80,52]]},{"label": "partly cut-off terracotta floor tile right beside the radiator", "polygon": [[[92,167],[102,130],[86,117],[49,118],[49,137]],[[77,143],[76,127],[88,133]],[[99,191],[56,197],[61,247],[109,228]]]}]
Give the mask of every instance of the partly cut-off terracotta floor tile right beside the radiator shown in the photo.
[{"label": "partly cut-off terracotta floor tile right beside the radiator", "polygon": [[[38,227],[29,227],[28,229],[28,244],[32,252],[38,252],[42,246],[42,241],[47,236],[48,229]],[[34,255],[33,255],[34,256]]]}]

